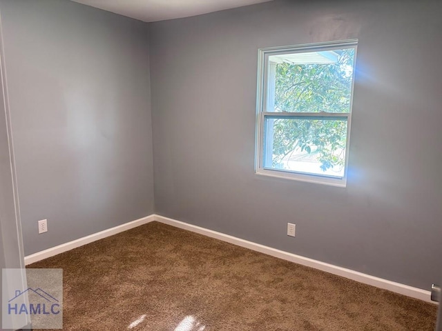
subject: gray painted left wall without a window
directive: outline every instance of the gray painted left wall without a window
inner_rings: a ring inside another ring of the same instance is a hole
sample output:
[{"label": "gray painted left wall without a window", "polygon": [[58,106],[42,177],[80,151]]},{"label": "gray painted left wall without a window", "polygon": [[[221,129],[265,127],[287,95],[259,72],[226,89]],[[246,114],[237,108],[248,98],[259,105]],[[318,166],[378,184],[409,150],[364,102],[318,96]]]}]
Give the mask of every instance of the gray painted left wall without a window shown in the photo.
[{"label": "gray painted left wall without a window", "polygon": [[148,25],[71,1],[0,10],[25,254],[152,214]]}]

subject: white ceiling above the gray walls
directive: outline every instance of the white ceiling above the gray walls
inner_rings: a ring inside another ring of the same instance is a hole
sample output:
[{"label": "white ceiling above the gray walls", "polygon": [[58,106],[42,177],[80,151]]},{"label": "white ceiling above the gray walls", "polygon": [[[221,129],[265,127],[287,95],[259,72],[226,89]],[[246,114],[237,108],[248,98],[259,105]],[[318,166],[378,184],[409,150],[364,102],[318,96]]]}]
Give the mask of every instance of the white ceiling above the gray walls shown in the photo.
[{"label": "white ceiling above the gray walls", "polygon": [[178,19],[272,0],[72,0],[146,22]]}]

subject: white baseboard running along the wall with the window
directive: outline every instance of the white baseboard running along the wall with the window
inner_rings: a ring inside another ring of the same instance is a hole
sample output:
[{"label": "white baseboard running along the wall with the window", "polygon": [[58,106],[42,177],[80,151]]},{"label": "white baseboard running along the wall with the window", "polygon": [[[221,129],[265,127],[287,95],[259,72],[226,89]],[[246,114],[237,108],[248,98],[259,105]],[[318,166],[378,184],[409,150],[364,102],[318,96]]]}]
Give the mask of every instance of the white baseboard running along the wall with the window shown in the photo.
[{"label": "white baseboard running along the wall with the window", "polygon": [[376,288],[383,288],[384,290],[390,290],[392,292],[406,295],[407,297],[412,297],[430,303],[435,303],[430,299],[431,292],[422,290],[420,288],[414,288],[409,285],[404,285],[401,283],[396,283],[394,281],[388,281],[387,279],[370,276],[369,274],[363,274],[362,272],[341,268],[336,265],[332,265],[321,261],[316,261],[314,259],[309,259],[308,257],[301,257],[300,255],[284,252],[282,250],[276,250],[275,248],[271,248],[265,245],[260,245],[259,243],[253,243],[251,241],[229,236],[229,234],[208,230],[206,228],[201,228],[200,226],[197,225],[184,223],[182,221],[177,221],[175,219],[169,219],[168,217],[162,217],[157,214],[154,215],[154,219],[155,221],[159,221],[164,224],[173,225],[176,228],[181,228],[199,234],[204,234],[207,237],[220,239],[222,241],[226,241],[227,243],[233,243],[235,245],[244,248],[249,248],[250,250],[255,250],[256,252],[261,252],[267,255],[271,255],[272,257],[278,257],[279,259],[284,259],[301,265],[307,265],[307,267],[329,272],[331,274],[336,274],[338,276],[352,279],[360,283],[365,283],[367,285],[376,286]]}]

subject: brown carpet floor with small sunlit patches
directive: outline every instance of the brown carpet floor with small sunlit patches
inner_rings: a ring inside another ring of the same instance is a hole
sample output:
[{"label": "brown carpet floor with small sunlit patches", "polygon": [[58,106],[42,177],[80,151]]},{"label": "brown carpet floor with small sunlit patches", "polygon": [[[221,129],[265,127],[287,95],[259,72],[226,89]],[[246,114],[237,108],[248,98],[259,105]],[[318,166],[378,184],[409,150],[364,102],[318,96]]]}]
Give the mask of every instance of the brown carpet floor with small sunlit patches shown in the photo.
[{"label": "brown carpet floor with small sunlit patches", "polygon": [[434,330],[436,305],[152,222],[63,268],[64,330]]}]

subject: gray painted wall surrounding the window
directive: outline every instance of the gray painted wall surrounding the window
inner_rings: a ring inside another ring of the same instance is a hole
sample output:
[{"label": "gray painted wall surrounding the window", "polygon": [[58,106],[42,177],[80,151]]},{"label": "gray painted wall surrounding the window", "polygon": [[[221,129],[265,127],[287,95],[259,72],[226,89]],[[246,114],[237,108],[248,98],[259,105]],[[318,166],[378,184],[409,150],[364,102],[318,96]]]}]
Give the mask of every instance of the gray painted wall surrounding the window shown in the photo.
[{"label": "gray painted wall surrounding the window", "polygon": [[[151,24],[155,212],[429,290],[441,279],[441,10],[272,1]],[[351,38],[347,188],[254,174],[258,48]]]}]

